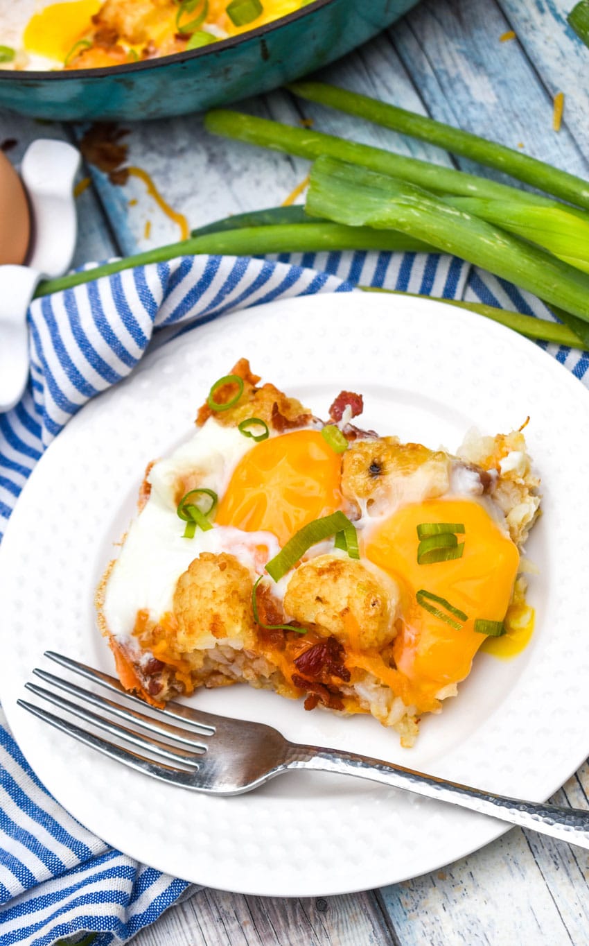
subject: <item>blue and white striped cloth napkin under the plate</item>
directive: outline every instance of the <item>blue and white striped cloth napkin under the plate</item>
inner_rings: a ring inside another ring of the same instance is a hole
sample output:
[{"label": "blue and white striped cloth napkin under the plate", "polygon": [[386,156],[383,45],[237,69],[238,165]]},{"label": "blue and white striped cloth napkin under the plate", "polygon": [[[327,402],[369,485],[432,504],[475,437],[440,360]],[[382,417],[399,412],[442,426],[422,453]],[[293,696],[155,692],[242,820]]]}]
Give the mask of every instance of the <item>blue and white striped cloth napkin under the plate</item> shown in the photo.
[{"label": "blue and white striped cloth napkin under the plate", "polygon": [[[44,297],[28,313],[26,394],[0,414],[0,539],[43,450],[91,397],[129,375],[150,345],[225,312],[358,285],[551,318],[532,296],[435,254],[182,257]],[[586,353],[545,347],[585,378]],[[1,710],[0,742],[0,946],[50,946],[88,933],[94,946],[123,943],[178,900],[185,882],[109,848],[45,791]]]}]

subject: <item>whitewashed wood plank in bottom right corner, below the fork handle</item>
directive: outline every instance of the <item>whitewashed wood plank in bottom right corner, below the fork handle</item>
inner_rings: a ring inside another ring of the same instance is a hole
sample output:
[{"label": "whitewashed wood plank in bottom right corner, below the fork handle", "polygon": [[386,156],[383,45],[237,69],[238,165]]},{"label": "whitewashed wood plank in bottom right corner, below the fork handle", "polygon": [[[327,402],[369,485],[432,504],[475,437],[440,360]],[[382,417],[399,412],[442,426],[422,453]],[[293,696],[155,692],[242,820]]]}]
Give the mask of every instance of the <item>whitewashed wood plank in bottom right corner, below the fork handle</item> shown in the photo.
[{"label": "whitewashed wood plank in bottom right corner, below the fork handle", "polygon": [[587,889],[573,876],[571,851],[512,829],[470,857],[381,895],[402,946],[585,946]]}]

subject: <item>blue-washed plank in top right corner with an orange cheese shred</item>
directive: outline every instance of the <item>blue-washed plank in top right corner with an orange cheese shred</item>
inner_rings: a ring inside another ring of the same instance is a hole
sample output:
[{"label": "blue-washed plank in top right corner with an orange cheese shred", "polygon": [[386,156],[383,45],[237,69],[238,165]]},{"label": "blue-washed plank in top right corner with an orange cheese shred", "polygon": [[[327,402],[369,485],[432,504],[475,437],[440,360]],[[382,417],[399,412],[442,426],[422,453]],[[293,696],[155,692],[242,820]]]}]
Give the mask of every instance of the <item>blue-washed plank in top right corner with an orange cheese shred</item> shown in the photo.
[{"label": "blue-washed plank in top right corner with an orange cheese shred", "polygon": [[517,42],[533,61],[548,96],[564,93],[564,126],[583,153],[589,155],[589,87],[582,80],[589,73],[589,50],[566,23],[574,0],[547,0],[542,4],[522,0],[498,2],[517,35]]}]

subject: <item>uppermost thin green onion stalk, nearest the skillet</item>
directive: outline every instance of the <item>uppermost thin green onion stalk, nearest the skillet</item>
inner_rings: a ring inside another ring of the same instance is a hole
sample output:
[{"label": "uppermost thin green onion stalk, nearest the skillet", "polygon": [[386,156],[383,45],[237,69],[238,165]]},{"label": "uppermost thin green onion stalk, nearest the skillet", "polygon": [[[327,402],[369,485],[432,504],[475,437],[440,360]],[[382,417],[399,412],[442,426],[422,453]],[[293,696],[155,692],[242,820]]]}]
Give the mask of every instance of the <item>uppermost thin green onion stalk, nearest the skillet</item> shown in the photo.
[{"label": "uppermost thin green onion stalk, nearest the skillet", "polygon": [[[580,25],[581,15],[575,19]],[[589,14],[586,20],[584,15],[582,19],[583,22],[589,21]],[[461,131],[433,118],[407,112],[396,105],[388,105],[369,96],[361,96],[323,82],[294,82],[288,88],[296,96],[338,109],[339,112],[357,115],[413,138],[420,138],[481,165],[494,167],[563,201],[589,209],[587,181],[522,154],[521,151],[488,141],[470,131]]]}]

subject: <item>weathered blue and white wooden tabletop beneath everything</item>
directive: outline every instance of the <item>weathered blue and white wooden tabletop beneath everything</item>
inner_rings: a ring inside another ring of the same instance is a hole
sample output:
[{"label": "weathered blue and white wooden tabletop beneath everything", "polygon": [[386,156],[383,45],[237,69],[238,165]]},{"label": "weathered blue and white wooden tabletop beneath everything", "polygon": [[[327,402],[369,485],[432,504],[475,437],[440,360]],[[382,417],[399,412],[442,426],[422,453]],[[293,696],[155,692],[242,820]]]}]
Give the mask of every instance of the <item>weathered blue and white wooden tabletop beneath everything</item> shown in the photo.
[{"label": "weathered blue and white wooden tabletop beneath everything", "polygon": [[[369,0],[370,2],[370,0]],[[397,26],[325,70],[325,78],[423,111],[589,179],[589,50],[564,22],[574,0],[423,0]],[[516,39],[501,42],[513,30]],[[552,130],[553,96],[565,96],[563,126]],[[277,92],[249,110],[468,168],[417,142]],[[354,131],[352,132],[352,126]],[[253,150],[202,131],[199,115],[129,129],[129,163],[145,169],[191,227],[241,210],[281,203],[306,173],[286,155]],[[0,114],[0,144],[16,139],[18,163],[35,137],[78,140],[84,130]],[[479,170],[479,169],[478,169]],[[75,264],[130,254],[180,238],[131,177],[115,186],[95,167],[78,198]],[[586,807],[584,766],[554,800]],[[210,889],[194,893],[139,934],[137,946],[478,946],[589,942],[589,854],[512,830],[472,856],[403,884],[329,899],[278,900]]]}]

